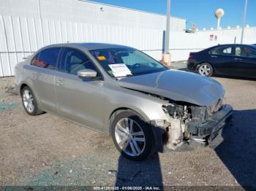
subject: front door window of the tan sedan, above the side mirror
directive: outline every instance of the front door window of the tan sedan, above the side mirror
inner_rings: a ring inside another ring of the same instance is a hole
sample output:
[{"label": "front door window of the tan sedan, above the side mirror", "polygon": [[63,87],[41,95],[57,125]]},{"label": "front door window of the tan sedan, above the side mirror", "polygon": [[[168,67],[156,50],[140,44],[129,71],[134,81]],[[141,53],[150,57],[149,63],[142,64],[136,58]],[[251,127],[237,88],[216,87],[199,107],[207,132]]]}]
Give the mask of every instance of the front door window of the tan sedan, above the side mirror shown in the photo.
[{"label": "front door window of the tan sedan, above the side mirror", "polygon": [[85,55],[85,53],[74,48],[65,48],[61,58],[59,70],[77,75],[78,71],[83,69],[92,69],[97,71],[94,63]]}]

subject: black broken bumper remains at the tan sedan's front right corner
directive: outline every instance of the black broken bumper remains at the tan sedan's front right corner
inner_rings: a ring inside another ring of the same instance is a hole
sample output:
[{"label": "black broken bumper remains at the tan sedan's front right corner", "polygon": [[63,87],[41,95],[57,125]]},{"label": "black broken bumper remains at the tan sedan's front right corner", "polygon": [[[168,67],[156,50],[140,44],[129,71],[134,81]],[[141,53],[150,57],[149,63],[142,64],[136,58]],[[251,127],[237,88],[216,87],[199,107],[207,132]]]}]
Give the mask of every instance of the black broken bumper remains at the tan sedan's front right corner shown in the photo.
[{"label": "black broken bumper remains at the tan sedan's front right corner", "polygon": [[212,148],[218,147],[223,141],[222,129],[230,122],[232,112],[232,106],[225,105],[206,121],[196,126],[188,125],[188,130],[192,133],[191,144],[199,143]]}]

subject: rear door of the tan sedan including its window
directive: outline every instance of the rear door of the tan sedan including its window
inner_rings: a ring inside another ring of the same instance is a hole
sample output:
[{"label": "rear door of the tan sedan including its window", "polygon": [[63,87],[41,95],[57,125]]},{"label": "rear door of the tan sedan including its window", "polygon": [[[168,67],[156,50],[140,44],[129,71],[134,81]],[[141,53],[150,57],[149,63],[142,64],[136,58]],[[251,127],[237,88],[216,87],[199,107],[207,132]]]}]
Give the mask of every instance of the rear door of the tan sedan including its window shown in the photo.
[{"label": "rear door of the tan sedan including its window", "polygon": [[34,67],[32,90],[39,99],[40,109],[56,112],[55,74],[61,47],[42,50],[31,61]]}]

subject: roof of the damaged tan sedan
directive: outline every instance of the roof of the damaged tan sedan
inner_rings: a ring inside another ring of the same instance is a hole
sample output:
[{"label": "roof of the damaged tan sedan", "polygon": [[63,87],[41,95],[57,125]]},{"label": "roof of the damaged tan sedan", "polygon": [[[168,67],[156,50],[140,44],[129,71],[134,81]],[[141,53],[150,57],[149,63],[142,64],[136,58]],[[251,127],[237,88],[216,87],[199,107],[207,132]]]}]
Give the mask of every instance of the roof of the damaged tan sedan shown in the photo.
[{"label": "roof of the damaged tan sedan", "polygon": [[[82,43],[61,43],[61,44],[51,44],[48,47],[84,47],[87,50],[99,50],[108,48],[129,48],[120,44],[108,44],[108,43],[98,43],[98,42],[82,42]],[[133,49],[133,48],[132,48]]]}]

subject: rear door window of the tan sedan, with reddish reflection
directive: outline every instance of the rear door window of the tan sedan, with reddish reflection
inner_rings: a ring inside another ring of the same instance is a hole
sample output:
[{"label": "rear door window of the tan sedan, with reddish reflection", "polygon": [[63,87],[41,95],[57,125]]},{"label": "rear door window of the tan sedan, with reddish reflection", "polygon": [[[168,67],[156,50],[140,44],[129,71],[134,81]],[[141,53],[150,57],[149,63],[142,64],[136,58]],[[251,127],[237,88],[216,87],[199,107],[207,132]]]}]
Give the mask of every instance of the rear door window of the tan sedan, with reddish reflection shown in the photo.
[{"label": "rear door window of the tan sedan, with reddish reflection", "polygon": [[42,50],[31,61],[31,65],[46,69],[56,69],[60,47]]}]

